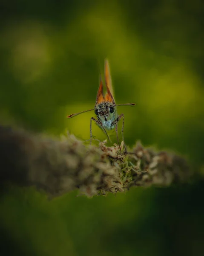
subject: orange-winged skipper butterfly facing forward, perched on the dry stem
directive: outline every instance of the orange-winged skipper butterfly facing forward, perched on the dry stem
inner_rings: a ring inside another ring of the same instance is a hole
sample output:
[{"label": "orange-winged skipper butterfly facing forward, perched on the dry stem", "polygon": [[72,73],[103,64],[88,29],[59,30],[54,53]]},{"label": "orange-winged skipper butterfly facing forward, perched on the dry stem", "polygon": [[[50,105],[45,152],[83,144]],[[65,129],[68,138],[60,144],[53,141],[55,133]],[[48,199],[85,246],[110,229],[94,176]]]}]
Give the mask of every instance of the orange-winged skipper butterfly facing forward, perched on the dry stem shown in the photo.
[{"label": "orange-winged skipper butterfly facing forward, perched on the dry stem", "polygon": [[[117,141],[118,145],[119,144],[119,139],[118,139],[118,121],[122,118],[123,119],[123,124],[122,124],[122,139],[124,141],[124,114],[122,113],[121,115],[118,115],[117,113],[117,106],[134,106],[135,103],[126,103],[126,104],[115,104],[115,99],[113,97],[113,88],[112,88],[112,80],[110,76],[110,69],[109,69],[109,61],[106,59],[105,60],[105,81],[106,81],[106,94],[103,94],[103,82],[100,76],[100,84],[98,87],[98,93],[96,96],[96,102],[95,102],[95,107],[86,111],[81,111],[79,113],[75,113],[72,115],[67,116],[67,118],[71,118],[74,116],[77,116],[81,113],[85,113],[88,111],[94,110],[96,117],[91,117],[91,122],[90,122],[90,144],[92,142],[92,121],[94,121],[106,134],[108,137],[108,140],[110,140],[109,135],[107,134],[106,130],[112,130],[115,128],[116,136],[117,136]],[[125,146],[126,149],[126,146]]]}]

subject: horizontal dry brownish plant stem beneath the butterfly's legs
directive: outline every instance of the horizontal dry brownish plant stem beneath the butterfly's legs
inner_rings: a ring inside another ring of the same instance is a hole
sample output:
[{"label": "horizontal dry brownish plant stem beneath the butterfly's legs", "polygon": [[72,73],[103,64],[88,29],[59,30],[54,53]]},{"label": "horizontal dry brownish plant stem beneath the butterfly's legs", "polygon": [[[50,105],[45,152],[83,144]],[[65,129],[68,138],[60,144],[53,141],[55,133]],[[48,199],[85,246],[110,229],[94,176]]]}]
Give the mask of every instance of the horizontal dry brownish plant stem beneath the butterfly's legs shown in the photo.
[{"label": "horizontal dry brownish plant stem beneath the butterfly's legs", "polygon": [[61,140],[0,126],[0,181],[36,186],[55,197],[76,188],[88,196],[123,192],[131,186],[188,182],[186,161],[139,142],[124,154],[123,143],[85,146],[73,135]]}]

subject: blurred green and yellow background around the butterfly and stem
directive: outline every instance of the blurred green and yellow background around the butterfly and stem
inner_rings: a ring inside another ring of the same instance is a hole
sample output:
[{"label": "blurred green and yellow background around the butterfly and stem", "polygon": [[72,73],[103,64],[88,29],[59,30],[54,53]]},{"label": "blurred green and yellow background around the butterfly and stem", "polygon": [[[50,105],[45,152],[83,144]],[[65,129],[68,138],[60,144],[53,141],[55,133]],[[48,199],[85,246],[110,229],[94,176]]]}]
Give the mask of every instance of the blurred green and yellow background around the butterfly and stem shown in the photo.
[{"label": "blurred green and yellow background around the butterfly and stem", "polygon": [[[187,157],[203,169],[204,3],[194,1],[1,1],[0,122],[89,139],[109,59],[124,137]],[[93,125],[93,134],[105,139]],[[115,133],[112,133],[115,140]],[[107,197],[52,201],[34,189],[0,198],[5,255],[200,255],[203,183],[132,188]],[[4,255],[2,254],[2,255]]]}]

